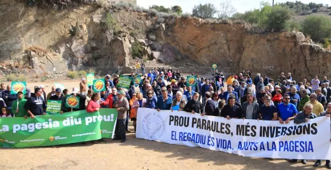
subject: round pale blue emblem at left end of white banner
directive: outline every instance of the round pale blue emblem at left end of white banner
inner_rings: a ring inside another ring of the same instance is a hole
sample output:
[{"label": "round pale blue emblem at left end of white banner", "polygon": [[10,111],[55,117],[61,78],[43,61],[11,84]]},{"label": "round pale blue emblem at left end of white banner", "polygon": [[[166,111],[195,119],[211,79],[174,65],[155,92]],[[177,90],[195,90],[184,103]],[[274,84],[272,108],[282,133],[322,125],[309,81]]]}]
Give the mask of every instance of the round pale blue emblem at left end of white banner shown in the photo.
[{"label": "round pale blue emblem at left end of white banner", "polygon": [[165,121],[157,112],[151,112],[142,119],[141,129],[148,140],[157,140],[165,132]]}]

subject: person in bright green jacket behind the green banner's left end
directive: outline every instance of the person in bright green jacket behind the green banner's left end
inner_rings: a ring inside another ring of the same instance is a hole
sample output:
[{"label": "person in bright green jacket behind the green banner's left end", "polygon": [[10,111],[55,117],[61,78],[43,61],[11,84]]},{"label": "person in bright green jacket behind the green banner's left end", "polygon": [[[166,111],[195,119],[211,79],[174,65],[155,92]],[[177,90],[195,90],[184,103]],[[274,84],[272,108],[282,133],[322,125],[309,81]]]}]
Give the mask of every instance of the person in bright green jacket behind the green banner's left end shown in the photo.
[{"label": "person in bright green jacket behind the green banner's left end", "polygon": [[[19,104],[17,104],[19,102]],[[14,117],[28,117],[27,110],[24,109],[24,104],[27,102],[27,99],[24,98],[23,92],[19,91],[17,93],[17,100],[13,101],[12,105],[12,113],[14,114]]]}]

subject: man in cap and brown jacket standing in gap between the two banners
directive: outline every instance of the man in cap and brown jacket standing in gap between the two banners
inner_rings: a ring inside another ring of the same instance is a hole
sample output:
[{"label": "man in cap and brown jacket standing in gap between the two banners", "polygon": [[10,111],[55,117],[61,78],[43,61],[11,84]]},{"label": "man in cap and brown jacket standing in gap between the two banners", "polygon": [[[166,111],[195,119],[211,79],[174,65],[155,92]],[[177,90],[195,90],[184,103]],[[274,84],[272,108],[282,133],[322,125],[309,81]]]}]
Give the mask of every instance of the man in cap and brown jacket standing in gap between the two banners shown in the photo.
[{"label": "man in cap and brown jacket standing in gap between the two banners", "polygon": [[118,99],[115,101],[114,107],[118,111],[116,127],[115,127],[115,135],[114,140],[121,140],[121,142],[125,142],[126,140],[126,129],[125,129],[125,121],[126,121],[126,111],[129,109],[129,101],[125,97],[125,92],[123,90],[118,91]]}]

